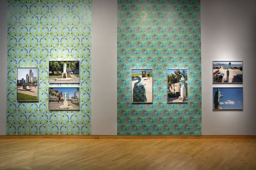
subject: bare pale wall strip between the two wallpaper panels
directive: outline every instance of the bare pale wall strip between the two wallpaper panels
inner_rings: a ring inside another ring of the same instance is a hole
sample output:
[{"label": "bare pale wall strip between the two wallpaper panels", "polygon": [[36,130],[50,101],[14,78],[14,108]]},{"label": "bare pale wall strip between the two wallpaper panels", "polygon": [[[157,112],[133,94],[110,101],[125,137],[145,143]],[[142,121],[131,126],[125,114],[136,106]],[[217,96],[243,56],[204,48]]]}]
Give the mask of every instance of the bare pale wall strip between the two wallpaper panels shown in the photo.
[{"label": "bare pale wall strip between the two wallpaper panels", "polygon": [[92,135],[117,135],[117,0],[93,0]]}]

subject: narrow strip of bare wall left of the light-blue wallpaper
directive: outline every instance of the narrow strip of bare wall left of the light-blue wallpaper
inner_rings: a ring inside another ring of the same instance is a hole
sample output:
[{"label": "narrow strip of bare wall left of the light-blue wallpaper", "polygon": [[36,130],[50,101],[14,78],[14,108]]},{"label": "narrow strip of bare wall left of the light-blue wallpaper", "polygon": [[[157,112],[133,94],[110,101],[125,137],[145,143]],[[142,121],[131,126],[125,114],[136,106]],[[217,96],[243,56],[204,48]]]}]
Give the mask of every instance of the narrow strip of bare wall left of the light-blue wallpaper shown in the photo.
[{"label": "narrow strip of bare wall left of the light-blue wallpaper", "polygon": [[0,135],[6,134],[7,7],[0,1]]}]

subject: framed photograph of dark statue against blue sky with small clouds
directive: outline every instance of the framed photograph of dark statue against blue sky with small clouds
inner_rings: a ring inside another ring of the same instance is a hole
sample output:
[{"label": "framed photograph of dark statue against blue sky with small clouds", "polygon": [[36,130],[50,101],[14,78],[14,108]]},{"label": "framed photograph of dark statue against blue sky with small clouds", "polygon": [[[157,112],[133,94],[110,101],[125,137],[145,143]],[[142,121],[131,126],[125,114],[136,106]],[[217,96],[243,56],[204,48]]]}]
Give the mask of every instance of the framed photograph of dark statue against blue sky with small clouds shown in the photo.
[{"label": "framed photograph of dark statue against blue sky with small clouds", "polygon": [[243,110],[243,88],[213,88],[213,110]]}]

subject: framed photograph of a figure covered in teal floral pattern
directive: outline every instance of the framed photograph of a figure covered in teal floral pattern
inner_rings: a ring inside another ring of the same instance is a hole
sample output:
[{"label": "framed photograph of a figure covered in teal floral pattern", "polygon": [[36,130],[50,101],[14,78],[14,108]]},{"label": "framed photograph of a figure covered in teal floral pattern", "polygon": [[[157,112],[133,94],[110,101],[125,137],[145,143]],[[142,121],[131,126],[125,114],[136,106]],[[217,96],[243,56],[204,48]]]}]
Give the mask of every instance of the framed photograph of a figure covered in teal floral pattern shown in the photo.
[{"label": "framed photograph of a figure covered in teal floral pattern", "polygon": [[132,103],[153,102],[152,69],[132,69]]}]

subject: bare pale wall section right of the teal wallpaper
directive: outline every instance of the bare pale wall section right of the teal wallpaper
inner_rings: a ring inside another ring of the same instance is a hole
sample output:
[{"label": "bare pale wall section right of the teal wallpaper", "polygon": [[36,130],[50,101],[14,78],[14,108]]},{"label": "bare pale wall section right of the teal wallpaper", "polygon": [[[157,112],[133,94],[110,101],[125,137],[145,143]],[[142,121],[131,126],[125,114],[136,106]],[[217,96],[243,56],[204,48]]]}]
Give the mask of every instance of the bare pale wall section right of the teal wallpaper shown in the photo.
[{"label": "bare pale wall section right of the teal wallpaper", "polygon": [[[256,135],[255,7],[255,0],[201,0],[202,135]],[[213,86],[212,60],[243,60],[243,85]],[[212,87],[243,87],[243,111],[213,112]]]}]

